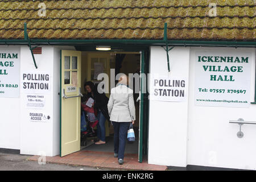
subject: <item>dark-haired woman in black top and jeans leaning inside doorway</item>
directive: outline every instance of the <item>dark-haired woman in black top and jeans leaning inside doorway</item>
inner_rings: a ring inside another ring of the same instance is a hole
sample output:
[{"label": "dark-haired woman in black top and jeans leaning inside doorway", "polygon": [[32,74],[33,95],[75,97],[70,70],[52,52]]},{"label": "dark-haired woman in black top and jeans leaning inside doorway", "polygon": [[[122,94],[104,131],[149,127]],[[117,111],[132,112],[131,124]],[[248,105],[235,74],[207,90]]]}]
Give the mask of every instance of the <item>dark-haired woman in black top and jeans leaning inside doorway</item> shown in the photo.
[{"label": "dark-haired woman in black top and jeans leaning inside doorway", "polygon": [[109,120],[109,112],[108,112],[108,97],[106,97],[105,93],[97,92],[97,85],[94,85],[92,81],[85,82],[84,89],[87,91],[87,97],[93,98],[94,103],[93,107],[97,110],[97,138],[98,142],[95,144],[105,144],[106,143],[106,134],[105,134],[105,121]]}]

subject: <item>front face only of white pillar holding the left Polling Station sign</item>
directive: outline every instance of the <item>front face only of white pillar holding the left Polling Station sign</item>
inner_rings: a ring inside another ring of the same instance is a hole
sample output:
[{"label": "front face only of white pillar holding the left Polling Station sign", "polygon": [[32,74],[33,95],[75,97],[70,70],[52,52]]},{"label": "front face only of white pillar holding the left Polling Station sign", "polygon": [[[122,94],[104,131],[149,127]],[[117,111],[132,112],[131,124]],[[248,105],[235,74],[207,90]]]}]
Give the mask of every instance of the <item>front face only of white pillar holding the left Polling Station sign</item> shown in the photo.
[{"label": "front face only of white pillar holding the left Polling Station sign", "polygon": [[[42,55],[35,55],[38,69],[35,68],[30,49],[27,46],[20,48],[21,71],[20,81],[23,73],[45,72],[50,74],[51,92],[45,94],[46,106],[44,112],[51,117],[50,122],[31,122],[29,112],[33,109],[26,107],[26,93],[20,92],[20,154],[47,156],[53,155],[53,47],[42,47]],[[22,85],[22,83],[20,84]],[[36,110],[34,110],[36,111]],[[41,110],[39,110],[41,111]],[[40,153],[42,152],[42,153]]]}]

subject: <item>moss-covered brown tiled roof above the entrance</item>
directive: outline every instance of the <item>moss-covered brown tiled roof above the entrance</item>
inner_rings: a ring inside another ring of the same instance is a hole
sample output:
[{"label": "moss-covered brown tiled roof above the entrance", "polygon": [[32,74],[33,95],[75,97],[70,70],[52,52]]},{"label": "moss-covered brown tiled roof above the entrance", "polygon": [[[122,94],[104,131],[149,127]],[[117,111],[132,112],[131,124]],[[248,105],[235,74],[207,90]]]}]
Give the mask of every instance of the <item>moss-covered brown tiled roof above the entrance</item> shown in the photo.
[{"label": "moss-covered brown tiled roof above the entrance", "polygon": [[[217,16],[209,16],[216,2]],[[38,15],[39,3],[46,16]],[[255,40],[254,0],[0,1],[0,39]]]}]

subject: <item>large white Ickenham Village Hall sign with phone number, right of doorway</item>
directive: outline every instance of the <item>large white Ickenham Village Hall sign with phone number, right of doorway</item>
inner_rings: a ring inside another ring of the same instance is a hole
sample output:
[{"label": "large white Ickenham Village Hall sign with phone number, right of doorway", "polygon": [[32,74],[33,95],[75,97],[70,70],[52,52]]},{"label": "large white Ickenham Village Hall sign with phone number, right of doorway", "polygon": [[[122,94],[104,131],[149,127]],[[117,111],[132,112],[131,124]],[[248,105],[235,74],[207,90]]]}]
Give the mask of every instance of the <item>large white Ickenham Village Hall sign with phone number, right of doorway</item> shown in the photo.
[{"label": "large white Ickenham Village Hall sign with phone number, right of doorway", "polygon": [[251,55],[196,52],[195,104],[249,107]]}]

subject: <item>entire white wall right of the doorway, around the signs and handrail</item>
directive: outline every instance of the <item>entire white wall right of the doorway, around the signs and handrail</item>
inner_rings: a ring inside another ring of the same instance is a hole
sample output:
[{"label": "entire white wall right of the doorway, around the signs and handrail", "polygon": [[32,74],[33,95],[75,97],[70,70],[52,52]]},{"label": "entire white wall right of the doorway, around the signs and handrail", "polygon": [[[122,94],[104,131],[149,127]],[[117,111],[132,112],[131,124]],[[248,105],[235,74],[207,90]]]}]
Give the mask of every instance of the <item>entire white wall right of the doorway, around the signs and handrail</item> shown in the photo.
[{"label": "entire white wall right of the doorway, around the signs and handrail", "polygon": [[[255,93],[255,48],[179,48],[170,51],[171,76],[188,77],[187,102],[150,100],[148,163],[185,167],[256,169],[256,125],[239,126],[229,120],[256,122],[256,105],[248,108],[195,106],[196,52],[248,53],[252,57],[250,98]],[[168,75],[166,52],[151,47],[150,73]]]}]

